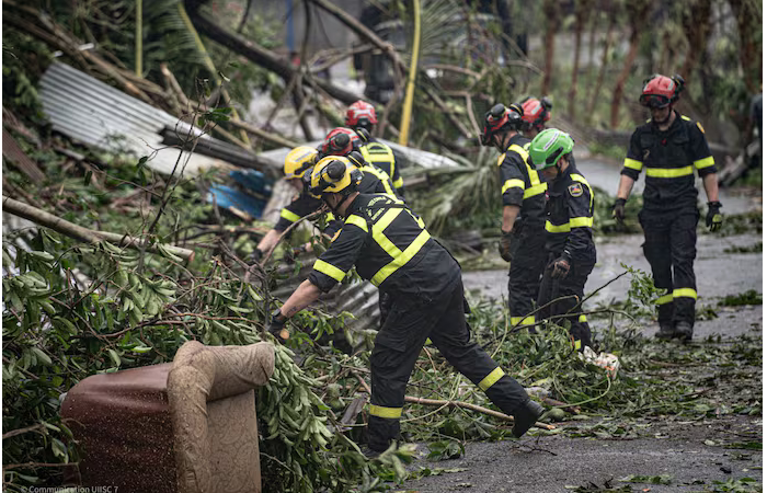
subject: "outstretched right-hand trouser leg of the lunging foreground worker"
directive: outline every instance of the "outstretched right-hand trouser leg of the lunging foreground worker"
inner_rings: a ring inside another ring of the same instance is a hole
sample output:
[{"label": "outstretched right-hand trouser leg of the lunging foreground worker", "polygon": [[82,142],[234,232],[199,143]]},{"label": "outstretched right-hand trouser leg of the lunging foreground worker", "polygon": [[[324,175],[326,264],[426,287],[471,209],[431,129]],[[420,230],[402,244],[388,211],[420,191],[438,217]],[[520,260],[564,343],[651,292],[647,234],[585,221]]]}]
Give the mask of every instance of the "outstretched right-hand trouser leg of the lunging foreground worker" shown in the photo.
[{"label": "outstretched right-hand trouser leg of the lunging foreground worker", "polygon": [[504,375],[490,355],[471,341],[462,297],[462,285],[458,282],[450,301],[433,308],[440,311],[440,317],[430,337],[450,365],[476,386],[485,387],[484,393],[504,413],[513,414],[529,399],[527,392],[518,381]]}]

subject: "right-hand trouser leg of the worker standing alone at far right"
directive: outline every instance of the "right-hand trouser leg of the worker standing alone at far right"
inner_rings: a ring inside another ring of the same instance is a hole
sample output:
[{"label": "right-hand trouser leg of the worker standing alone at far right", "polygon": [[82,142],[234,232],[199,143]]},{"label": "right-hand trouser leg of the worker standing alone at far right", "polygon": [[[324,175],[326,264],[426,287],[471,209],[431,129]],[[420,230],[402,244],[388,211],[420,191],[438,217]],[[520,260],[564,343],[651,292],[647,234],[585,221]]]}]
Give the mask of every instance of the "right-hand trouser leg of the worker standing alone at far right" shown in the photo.
[{"label": "right-hand trouser leg of the worker standing alone at far right", "polygon": [[671,263],[674,270],[674,318],[673,322],[695,325],[695,302],[698,298],[694,263],[698,210],[689,209],[673,219],[671,228]]}]

